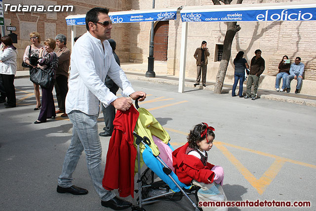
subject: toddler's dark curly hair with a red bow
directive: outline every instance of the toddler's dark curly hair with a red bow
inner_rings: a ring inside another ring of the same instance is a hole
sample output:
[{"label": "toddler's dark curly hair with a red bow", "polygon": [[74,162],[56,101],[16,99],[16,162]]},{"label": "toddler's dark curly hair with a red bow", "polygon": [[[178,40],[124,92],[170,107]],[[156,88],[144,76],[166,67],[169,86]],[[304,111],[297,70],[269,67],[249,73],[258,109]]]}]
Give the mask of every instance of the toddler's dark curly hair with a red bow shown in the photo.
[{"label": "toddler's dark curly hair with a red bow", "polygon": [[[206,134],[201,137],[201,134],[205,131],[207,125],[200,123],[196,125],[192,130],[190,130],[187,136],[189,147],[197,149],[197,141],[201,141],[206,138]],[[215,133],[211,129],[207,129],[207,135],[211,135],[215,138]]]}]

